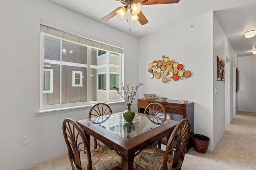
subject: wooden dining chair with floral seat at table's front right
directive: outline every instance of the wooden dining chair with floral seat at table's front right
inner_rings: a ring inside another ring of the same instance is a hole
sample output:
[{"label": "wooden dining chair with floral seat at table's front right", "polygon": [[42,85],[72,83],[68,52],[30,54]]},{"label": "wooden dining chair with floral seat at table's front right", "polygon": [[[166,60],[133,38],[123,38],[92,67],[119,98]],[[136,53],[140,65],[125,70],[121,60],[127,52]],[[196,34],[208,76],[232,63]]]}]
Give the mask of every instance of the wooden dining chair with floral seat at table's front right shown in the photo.
[{"label": "wooden dining chair with floral seat at table's front right", "polygon": [[149,146],[134,158],[136,170],[180,170],[190,136],[191,123],[182,119],[172,131],[166,149]]}]

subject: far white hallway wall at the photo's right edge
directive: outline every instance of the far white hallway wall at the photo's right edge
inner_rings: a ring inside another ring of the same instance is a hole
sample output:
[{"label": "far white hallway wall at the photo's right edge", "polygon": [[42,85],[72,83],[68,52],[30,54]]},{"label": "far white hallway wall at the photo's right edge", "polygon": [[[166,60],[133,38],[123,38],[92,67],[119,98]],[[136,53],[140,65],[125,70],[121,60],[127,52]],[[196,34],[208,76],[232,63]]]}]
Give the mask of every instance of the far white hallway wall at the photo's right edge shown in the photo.
[{"label": "far white hallway wall at the photo's right edge", "polygon": [[256,112],[256,55],[238,57],[238,110]]}]

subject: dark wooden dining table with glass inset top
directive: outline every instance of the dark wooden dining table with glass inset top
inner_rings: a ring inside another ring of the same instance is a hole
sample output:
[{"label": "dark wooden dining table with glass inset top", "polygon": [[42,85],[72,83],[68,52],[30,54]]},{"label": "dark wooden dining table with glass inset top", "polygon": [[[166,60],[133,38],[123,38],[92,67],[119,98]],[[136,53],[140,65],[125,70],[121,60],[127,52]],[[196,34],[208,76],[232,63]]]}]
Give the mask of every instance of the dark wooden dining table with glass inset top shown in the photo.
[{"label": "dark wooden dining table with glass inset top", "polygon": [[122,157],[122,169],[133,170],[140,150],[172,133],[178,121],[136,112],[131,123],[122,112],[77,121],[90,143],[90,135],[111,147]]}]

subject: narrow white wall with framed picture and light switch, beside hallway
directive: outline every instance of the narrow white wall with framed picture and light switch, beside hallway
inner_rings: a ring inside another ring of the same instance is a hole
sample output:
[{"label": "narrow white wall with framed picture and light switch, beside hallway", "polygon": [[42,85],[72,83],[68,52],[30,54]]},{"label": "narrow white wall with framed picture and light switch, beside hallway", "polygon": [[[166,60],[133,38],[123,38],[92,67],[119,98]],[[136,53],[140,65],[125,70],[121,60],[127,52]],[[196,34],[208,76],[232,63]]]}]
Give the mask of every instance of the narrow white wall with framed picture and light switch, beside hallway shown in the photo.
[{"label": "narrow white wall with framed picture and light switch, beside hallway", "polygon": [[[222,30],[216,16],[213,15],[213,145],[214,148],[220,141],[226,130],[226,104],[225,104],[225,83],[230,77],[230,104],[233,108],[233,66],[230,64],[230,74],[225,74],[225,82],[217,81],[217,56],[226,61],[226,57],[230,59],[230,63],[237,65],[237,56],[233,47],[230,45],[224,31]],[[227,64],[227,63],[226,63]],[[225,73],[228,72],[225,70]],[[215,94],[215,88],[218,93]],[[229,108],[230,109],[230,108]],[[230,117],[233,118],[233,112],[230,111]]]}]

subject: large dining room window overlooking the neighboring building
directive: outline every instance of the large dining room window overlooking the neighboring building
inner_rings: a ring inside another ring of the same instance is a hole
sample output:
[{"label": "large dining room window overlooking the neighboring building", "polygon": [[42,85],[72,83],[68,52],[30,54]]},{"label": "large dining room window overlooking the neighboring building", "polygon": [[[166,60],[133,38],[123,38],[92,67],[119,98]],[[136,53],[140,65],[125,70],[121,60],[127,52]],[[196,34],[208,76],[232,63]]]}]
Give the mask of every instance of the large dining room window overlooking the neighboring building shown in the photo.
[{"label": "large dining room window overlooking the neighboring building", "polygon": [[44,25],[41,38],[41,109],[120,100],[113,86],[120,84],[121,53],[117,51],[122,49],[106,44],[100,47],[114,51],[101,49],[98,42]]}]

